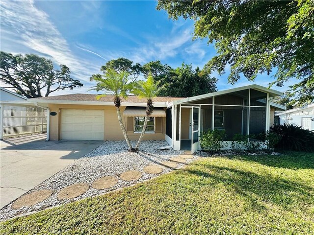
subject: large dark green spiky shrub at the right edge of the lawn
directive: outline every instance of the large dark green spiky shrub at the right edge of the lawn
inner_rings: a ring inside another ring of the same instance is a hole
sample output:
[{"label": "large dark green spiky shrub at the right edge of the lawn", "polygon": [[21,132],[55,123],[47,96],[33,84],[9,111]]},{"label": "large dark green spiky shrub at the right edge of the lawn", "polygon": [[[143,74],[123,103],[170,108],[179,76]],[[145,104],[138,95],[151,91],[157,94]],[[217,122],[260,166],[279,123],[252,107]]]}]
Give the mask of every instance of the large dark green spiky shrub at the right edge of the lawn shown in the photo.
[{"label": "large dark green spiky shrub at the right edge of the lawn", "polygon": [[296,125],[274,125],[271,131],[280,136],[277,148],[293,151],[314,152],[314,131]]}]

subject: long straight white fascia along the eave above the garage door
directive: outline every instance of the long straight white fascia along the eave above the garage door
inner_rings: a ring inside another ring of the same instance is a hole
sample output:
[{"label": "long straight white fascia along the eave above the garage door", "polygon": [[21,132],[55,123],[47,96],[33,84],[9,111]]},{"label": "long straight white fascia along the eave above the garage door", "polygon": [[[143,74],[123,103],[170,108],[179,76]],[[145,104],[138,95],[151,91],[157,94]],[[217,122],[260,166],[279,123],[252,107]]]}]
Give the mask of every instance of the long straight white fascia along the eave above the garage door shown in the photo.
[{"label": "long straight white fascia along the eave above the garage door", "polygon": [[[110,102],[102,102],[102,101],[74,101],[74,100],[51,100],[51,99],[36,99],[31,100],[30,102],[37,102],[41,104],[75,104],[75,105],[105,105],[105,106],[114,106],[112,101]],[[153,102],[154,107],[162,107],[166,108],[166,102]],[[137,107],[145,107],[145,103],[135,103],[135,102],[121,102],[121,106],[137,106]]]}]

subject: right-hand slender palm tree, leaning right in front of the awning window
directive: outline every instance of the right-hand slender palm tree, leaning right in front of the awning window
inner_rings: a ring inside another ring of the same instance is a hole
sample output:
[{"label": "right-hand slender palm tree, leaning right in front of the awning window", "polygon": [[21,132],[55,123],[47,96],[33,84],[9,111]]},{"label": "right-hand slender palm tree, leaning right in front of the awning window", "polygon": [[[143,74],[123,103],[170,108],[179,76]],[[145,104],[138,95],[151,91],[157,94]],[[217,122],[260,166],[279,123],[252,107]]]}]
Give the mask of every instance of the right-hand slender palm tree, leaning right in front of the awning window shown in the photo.
[{"label": "right-hand slender palm tree, leaning right in front of the awning window", "polygon": [[152,115],[154,111],[154,105],[153,105],[153,98],[157,96],[157,94],[165,88],[167,84],[164,84],[161,87],[158,87],[159,81],[155,82],[152,74],[150,73],[147,77],[146,81],[138,81],[132,90],[132,93],[135,95],[138,95],[140,98],[146,98],[146,117],[144,119],[144,126],[142,133],[136,143],[135,151],[138,150],[139,144],[141,143],[143,136],[145,134],[146,128],[147,128],[147,121]]}]

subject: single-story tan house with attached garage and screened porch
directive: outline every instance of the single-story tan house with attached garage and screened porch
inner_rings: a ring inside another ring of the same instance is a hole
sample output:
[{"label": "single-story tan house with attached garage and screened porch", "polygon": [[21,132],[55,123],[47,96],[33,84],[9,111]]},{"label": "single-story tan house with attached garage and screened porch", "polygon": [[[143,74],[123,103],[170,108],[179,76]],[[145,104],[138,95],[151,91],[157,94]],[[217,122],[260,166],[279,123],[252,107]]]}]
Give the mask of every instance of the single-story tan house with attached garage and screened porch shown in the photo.
[{"label": "single-story tan house with attached garage and screened porch", "polygon": [[[200,148],[200,134],[224,129],[226,135],[258,134],[269,130],[276,107],[269,99],[281,92],[248,85],[193,97],[156,97],[144,140],[166,140],[173,149]],[[111,95],[65,94],[23,101],[48,109],[47,141],[124,140]],[[22,101],[21,101],[22,102]],[[130,95],[121,113],[131,140],[138,140],[146,100]]]}]

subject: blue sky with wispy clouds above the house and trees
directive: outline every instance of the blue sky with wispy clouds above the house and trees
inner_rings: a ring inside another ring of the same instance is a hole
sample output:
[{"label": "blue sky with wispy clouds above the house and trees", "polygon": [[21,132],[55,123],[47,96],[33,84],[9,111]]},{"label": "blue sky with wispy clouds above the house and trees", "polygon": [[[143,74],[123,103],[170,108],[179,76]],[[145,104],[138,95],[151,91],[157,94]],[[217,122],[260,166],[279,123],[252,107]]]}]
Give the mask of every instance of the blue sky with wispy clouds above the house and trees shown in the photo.
[{"label": "blue sky with wispy clouds above the house and trees", "polygon": [[[89,77],[111,59],[125,57],[145,64],[160,60],[173,68],[192,64],[203,68],[216,54],[207,40],[193,38],[193,21],[172,21],[157,1],[1,1],[1,45],[11,53],[35,53],[65,64],[84,86],[55,94],[85,93]],[[218,89],[232,88],[227,70]],[[254,83],[273,79],[261,74]],[[245,78],[235,86],[252,84]],[[285,91],[285,87],[273,89]],[[91,92],[89,92],[91,93]]]}]

